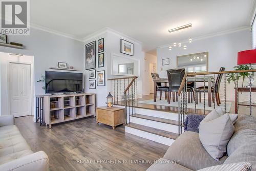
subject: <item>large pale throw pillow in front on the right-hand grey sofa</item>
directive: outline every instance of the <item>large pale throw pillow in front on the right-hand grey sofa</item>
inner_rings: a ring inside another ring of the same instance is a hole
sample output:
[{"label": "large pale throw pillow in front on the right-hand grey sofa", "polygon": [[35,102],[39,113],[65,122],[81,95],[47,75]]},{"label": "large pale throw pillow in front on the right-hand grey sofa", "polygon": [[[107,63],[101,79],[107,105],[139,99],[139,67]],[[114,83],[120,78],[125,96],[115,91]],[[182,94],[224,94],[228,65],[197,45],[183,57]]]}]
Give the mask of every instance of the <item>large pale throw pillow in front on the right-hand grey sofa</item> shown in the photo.
[{"label": "large pale throw pillow in front on the right-hand grey sofa", "polygon": [[212,111],[199,124],[199,139],[208,154],[219,161],[227,149],[227,143],[234,132],[228,114],[220,116]]}]

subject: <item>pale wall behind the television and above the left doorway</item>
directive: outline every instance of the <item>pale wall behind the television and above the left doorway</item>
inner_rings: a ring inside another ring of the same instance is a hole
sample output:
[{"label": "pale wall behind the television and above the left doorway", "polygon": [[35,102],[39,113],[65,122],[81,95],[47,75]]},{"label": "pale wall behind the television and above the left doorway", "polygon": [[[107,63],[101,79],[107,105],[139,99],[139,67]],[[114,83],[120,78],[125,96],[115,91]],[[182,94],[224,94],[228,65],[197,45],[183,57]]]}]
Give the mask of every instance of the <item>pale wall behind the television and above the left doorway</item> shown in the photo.
[{"label": "pale wall behind the television and above the left doorway", "polygon": [[[31,28],[30,36],[8,36],[8,42],[10,41],[23,44],[25,49],[1,46],[0,52],[34,56],[36,95],[45,93],[45,90],[41,88],[44,84],[36,81],[41,78],[41,75],[45,75],[45,70],[49,70],[50,67],[56,67],[58,61],[67,62],[69,66],[73,66],[75,69],[79,70],[79,72],[84,72],[84,47],[81,41],[34,28]],[[2,65],[3,63],[1,63],[1,66]],[[3,75],[1,77],[3,77]],[[3,84],[2,80],[1,84]],[[6,97],[2,95],[1,98],[2,102],[6,99]],[[2,106],[1,111],[7,111],[7,109],[3,109]],[[5,115],[6,113],[4,112],[2,114]]]}]

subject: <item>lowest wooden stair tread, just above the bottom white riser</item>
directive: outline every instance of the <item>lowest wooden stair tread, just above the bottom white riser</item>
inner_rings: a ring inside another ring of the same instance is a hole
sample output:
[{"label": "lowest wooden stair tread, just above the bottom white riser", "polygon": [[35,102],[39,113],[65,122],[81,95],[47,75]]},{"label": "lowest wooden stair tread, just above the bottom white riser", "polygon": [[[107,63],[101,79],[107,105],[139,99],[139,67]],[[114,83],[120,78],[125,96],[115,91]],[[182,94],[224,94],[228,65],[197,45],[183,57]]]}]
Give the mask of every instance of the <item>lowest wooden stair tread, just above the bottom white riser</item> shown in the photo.
[{"label": "lowest wooden stair tread, just above the bottom white riser", "polygon": [[166,138],[174,139],[174,140],[179,136],[178,134],[175,134],[172,132],[159,130],[159,129],[155,129],[154,127],[148,127],[148,126],[144,126],[144,125],[140,125],[140,124],[136,124],[136,123],[129,123],[126,126],[132,127],[137,130],[145,131],[148,133],[156,134],[159,136],[163,136]]}]

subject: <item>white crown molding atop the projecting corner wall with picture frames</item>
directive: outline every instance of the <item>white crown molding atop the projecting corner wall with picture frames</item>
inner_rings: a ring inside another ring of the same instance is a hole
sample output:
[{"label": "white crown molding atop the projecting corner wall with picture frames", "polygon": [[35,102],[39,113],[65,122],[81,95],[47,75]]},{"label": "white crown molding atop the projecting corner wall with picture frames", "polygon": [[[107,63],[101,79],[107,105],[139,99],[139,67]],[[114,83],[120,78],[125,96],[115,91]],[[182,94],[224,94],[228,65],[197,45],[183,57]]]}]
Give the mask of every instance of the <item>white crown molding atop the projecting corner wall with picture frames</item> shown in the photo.
[{"label": "white crown molding atop the projecting corner wall with picture frames", "polygon": [[114,30],[114,29],[111,29],[111,28],[109,28],[109,27],[105,27],[105,28],[103,28],[103,29],[101,29],[101,30],[99,30],[99,31],[96,31],[96,32],[94,32],[94,33],[92,33],[92,34],[90,34],[90,35],[84,37],[84,38],[83,38],[83,42],[87,42],[87,41],[93,39],[94,37],[97,37],[97,36],[99,36],[99,35],[101,35],[101,34],[104,34],[104,33],[111,33],[111,34],[117,35],[117,36],[119,36],[119,37],[121,37],[121,38],[124,38],[124,39],[126,39],[126,40],[132,41],[132,42],[134,42],[135,44],[140,44],[140,45],[142,44],[141,41],[138,41],[138,40],[136,40],[135,38],[132,38],[132,37],[130,37],[130,36],[127,36],[127,35],[125,35],[125,34],[123,34],[123,33],[120,33],[120,32],[118,32],[118,31]]}]

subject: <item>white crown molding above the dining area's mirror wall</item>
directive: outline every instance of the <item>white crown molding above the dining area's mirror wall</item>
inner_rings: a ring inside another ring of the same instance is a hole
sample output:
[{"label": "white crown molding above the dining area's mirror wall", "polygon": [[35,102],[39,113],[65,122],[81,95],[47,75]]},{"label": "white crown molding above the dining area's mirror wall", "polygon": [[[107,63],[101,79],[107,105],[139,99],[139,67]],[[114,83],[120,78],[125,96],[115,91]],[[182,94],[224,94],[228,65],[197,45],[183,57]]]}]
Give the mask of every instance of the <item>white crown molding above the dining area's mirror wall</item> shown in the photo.
[{"label": "white crown molding above the dining area's mirror wall", "polygon": [[[211,38],[211,37],[216,37],[216,36],[221,36],[221,35],[225,35],[225,34],[230,34],[230,33],[235,33],[235,32],[239,32],[239,31],[243,31],[243,30],[251,30],[251,27],[239,27],[236,29],[230,29],[230,30],[226,30],[226,31],[222,31],[222,32],[217,32],[217,33],[212,33],[212,34],[206,34],[203,36],[198,36],[198,37],[191,37],[193,39],[193,41],[197,41],[197,40],[203,40],[203,39],[207,39],[207,38]],[[182,40],[182,41],[177,41],[177,42],[181,42],[181,44],[185,44],[188,43],[188,40]],[[172,46],[173,44],[166,44],[166,45],[162,45],[162,46],[158,46],[157,48],[166,48],[169,46]]]}]

